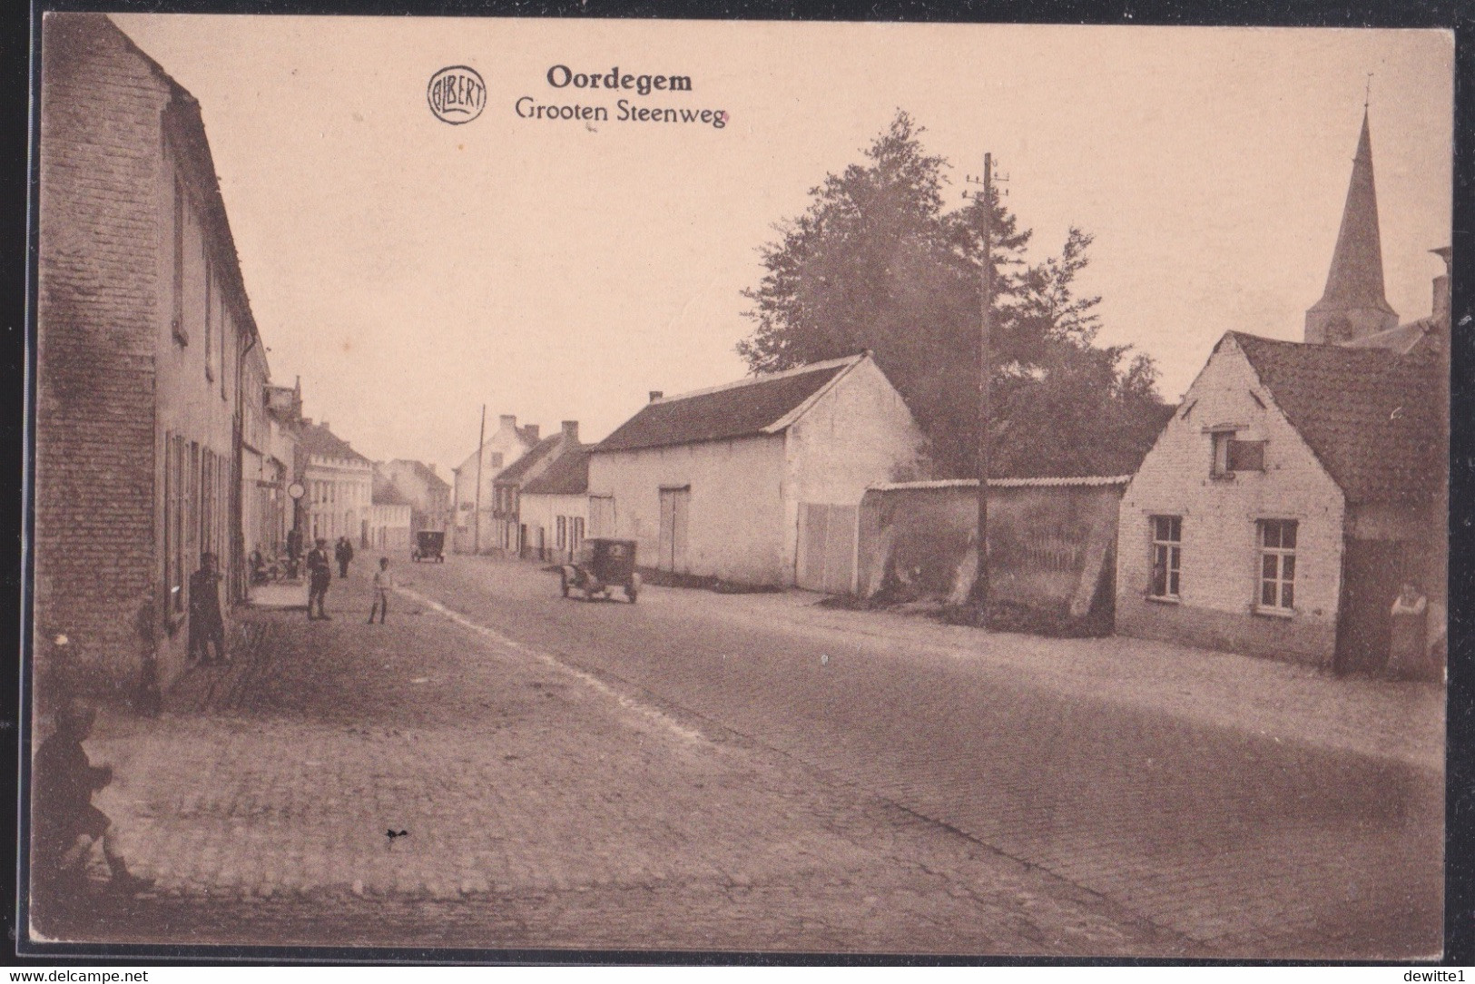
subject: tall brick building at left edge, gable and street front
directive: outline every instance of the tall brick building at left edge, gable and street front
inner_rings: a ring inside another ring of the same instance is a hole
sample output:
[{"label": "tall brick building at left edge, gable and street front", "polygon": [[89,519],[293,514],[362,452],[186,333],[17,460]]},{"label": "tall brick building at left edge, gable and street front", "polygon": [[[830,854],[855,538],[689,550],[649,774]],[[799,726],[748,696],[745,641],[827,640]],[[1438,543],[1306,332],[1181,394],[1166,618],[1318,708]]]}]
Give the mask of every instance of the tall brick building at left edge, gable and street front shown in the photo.
[{"label": "tall brick building at left edge, gable and street front", "polygon": [[41,43],[34,615],[74,655],[37,668],[131,698],[186,662],[199,555],[242,571],[261,339],[199,105],[106,16],[47,13]]}]

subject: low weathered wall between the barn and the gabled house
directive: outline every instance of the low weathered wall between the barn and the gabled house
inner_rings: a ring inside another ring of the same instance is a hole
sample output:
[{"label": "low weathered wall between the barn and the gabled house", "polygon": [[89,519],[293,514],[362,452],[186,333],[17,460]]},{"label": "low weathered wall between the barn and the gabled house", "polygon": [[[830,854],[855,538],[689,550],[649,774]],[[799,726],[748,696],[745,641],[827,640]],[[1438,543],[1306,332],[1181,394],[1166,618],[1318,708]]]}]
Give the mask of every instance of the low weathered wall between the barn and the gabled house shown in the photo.
[{"label": "low weathered wall between the barn and the gabled house", "polygon": [[[1128,477],[988,482],[990,600],[1081,620],[1111,605]],[[960,605],[976,571],[978,482],[873,485],[860,503],[857,593]]]}]

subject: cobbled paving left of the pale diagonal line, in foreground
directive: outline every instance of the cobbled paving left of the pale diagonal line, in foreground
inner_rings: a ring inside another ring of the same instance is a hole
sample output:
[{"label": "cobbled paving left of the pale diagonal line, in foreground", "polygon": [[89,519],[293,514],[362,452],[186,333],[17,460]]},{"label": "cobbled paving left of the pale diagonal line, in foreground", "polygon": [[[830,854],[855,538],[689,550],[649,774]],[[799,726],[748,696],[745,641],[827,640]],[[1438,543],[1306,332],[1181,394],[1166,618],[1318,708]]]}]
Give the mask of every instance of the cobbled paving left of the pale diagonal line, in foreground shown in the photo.
[{"label": "cobbled paving left of the pale diagonal line, in foreground", "polygon": [[1068,879],[494,628],[406,596],[394,623],[367,626],[367,606],[360,564],[333,584],[335,621],[249,612],[233,664],[192,670],[162,717],[99,723],[88,751],[117,780],[97,804],[156,890],[43,910],[43,937],[1195,952]]}]

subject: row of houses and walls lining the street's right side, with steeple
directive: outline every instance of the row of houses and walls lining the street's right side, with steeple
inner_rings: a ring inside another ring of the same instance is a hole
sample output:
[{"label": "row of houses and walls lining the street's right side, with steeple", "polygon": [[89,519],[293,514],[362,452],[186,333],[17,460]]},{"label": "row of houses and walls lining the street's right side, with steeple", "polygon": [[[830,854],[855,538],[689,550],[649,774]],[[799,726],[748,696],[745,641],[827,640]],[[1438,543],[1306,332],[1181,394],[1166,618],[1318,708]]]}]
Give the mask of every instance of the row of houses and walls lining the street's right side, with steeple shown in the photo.
[{"label": "row of houses and walls lining the street's right side, with steeple", "polygon": [[[990,482],[997,602],[1122,634],[1373,670],[1415,583],[1446,605],[1450,277],[1401,323],[1384,289],[1364,117],[1299,342],[1229,332],[1133,475]],[[456,543],[540,559],[634,540],[677,575],[963,600],[976,481],[869,353],[665,397],[581,446],[502,417],[457,469]],[[484,488],[476,491],[475,474]],[[481,513],[476,512],[481,503]],[[478,516],[482,516],[481,519]]]}]

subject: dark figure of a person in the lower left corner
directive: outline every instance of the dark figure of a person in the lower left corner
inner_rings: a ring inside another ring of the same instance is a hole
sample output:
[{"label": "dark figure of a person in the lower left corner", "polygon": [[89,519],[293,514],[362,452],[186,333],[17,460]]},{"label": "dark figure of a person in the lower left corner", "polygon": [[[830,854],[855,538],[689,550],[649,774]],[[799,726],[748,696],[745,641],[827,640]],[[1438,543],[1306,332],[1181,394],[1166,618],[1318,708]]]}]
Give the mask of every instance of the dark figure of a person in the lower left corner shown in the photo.
[{"label": "dark figure of a person in the lower left corner", "polygon": [[58,888],[81,888],[87,878],[87,856],[102,841],[112,873],[112,888],[124,894],[148,891],[153,881],[128,872],[118,850],[112,820],[91,804],[91,795],[112,782],[111,766],[93,766],[83,749],[97,713],[81,701],[69,701],[56,714],[56,730],[35,752],[35,820],[41,870]]}]

